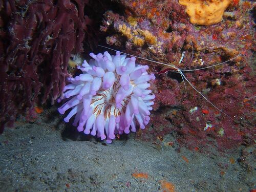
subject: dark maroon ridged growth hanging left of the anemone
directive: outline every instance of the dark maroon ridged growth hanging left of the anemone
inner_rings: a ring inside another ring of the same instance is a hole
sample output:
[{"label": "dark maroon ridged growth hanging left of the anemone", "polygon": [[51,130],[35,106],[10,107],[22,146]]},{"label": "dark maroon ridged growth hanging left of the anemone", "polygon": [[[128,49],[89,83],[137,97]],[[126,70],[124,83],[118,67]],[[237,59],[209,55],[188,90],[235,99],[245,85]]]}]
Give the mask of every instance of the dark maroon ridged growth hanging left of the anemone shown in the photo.
[{"label": "dark maroon ridged growth hanging left of the anemone", "polygon": [[65,86],[71,53],[82,50],[90,19],[87,1],[0,2],[0,132],[34,103],[56,99]]}]

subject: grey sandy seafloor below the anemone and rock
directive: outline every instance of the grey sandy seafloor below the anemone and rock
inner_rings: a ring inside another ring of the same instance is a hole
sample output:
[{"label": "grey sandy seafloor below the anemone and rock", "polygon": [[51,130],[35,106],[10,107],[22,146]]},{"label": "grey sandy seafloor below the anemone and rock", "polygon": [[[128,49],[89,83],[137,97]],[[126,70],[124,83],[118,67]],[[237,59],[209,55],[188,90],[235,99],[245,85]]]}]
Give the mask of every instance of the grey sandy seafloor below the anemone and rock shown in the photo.
[{"label": "grey sandy seafloor below the anemone and rock", "polygon": [[[0,135],[1,192],[174,191],[164,190],[165,181],[175,191],[250,191],[256,183],[252,146],[226,153],[215,147],[208,153],[177,146],[162,150],[134,135],[105,144],[77,133],[55,110],[45,110],[34,122],[19,120]],[[242,150],[248,152],[247,164],[241,163]]]}]

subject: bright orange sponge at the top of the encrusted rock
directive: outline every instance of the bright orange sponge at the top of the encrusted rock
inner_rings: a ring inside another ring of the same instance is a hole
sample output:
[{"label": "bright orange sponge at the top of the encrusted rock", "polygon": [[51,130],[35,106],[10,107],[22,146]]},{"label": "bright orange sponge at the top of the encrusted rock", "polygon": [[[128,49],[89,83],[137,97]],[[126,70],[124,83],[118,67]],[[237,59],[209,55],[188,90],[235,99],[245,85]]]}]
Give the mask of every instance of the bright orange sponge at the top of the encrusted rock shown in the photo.
[{"label": "bright orange sponge at the top of the encrusted rock", "polygon": [[179,3],[186,6],[191,23],[208,26],[221,21],[231,0],[179,0]]}]

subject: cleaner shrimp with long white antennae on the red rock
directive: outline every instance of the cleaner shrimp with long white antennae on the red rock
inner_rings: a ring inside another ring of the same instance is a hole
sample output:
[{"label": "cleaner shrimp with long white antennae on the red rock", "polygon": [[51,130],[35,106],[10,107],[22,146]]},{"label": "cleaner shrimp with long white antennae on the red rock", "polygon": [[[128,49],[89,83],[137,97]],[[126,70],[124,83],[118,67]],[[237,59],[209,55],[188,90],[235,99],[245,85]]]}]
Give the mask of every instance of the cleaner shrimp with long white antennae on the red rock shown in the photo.
[{"label": "cleaner shrimp with long white antennae on the red rock", "polygon": [[[98,45],[99,47],[102,47],[102,48],[105,48],[105,49],[109,49],[109,50],[112,50],[112,51],[117,51],[115,49],[112,49],[112,48],[109,48],[109,47],[105,47],[105,46],[101,46],[101,45]],[[193,86],[193,84],[187,79],[187,77],[184,75],[184,72],[190,72],[190,71],[198,71],[198,70],[204,70],[204,69],[208,69],[208,68],[212,68],[212,67],[216,67],[216,66],[220,66],[220,65],[224,65],[225,63],[228,63],[229,61],[231,60],[234,60],[236,58],[238,58],[239,56],[241,56],[242,54],[238,54],[237,56],[231,58],[231,59],[228,59],[224,62],[221,62],[221,63],[218,63],[218,64],[215,64],[215,65],[211,65],[211,66],[208,66],[208,67],[203,67],[203,68],[198,68],[198,69],[191,69],[191,70],[181,70],[179,68],[177,68],[175,65],[170,65],[170,64],[167,64],[167,63],[163,63],[163,62],[159,62],[159,61],[155,61],[155,60],[151,60],[151,59],[147,59],[147,58],[143,58],[143,57],[140,57],[140,56],[135,56],[135,55],[132,55],[132,54],[128,54],[128,53],[125,53],[125,52],[121,52],[120,53],[122,54],[125,54],[125,55],[129,55],[129,56],[133,56],[133,57],[136,57],[136,58],[139,58],[139,59],[143,59],[143,60],[146,60],[146,61],[150,61],[150,62],[154,62],[154,63],[158,63],[160,65],[163,65],[165,66],[165,69],[162,70],[162,71],[159,71],[159,72],[156,72],[156,74],[164,74],[164,73],[167,73],[168,71],[170,70],[174,70],[176,72],[178,72],[180,75],[181,75],[181,78],[182,78],[182,81],[184,83],[184,87],[185,87],[185,91],[186,91],[186,82],[188,82],[188,84],[198,93],[200,94],[203,99],[205,99],[210,105],[212,105],[215,109],[217,109],[220,113],[224,114],[225,116],[227,116],[228,118],[230,118],[231,120],[234,120],[231,116],[229,116],[227,113],[225,113],[223,110],[221,110],[220,108],[218,108],[218,106],[214,103],[212,103],[206,96],[204,96],[200,91],[197,90],[197,88],[195,86]],[[184,55],[185,55],[185,52],[182,52],[182,56],[179,60],[179,64],[182,62],[183,58],[184,58]]]}]

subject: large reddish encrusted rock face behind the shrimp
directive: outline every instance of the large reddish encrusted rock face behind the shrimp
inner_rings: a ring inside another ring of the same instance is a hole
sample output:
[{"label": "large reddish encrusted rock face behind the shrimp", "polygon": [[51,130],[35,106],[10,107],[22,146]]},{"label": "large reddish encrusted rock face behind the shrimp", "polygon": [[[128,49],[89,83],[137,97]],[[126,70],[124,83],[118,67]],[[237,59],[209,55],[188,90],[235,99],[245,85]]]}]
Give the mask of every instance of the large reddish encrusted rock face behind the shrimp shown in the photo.
[{"label": "large reddish encrusted rock face behind the shrimp", "polygon": [[[190,86],[185,90],[178,73],[168,72],[157,75],[152,84],[156,99],[151,122],[148,129],[137,132],[136,137],[155,141],[171,133],[176,139],[174,146],[200,148],[200,151],[207,150],[207,144],[217,145],[220,150],[237,144],[253,144],[256,83],[251,56],[256,44],[255,23],[250,11],[255,3],[233,1],[220,23],[195,26],[189,22],[184,7],[176,1],[116,2],[124,12],[107,11],[100,28],[108,33],[106,43],[109,47],[172,63],[186,70],[233,58],[215,68],[184,72],[191,84],[232,119],[220,113]],[[119,26],[129,28],[131,38],[120,31]],[[148,31],[155,37],[156,44],[145,42],[144,36],[137,31]],[[133,40],[139,38],[143,40],[141,44]],[[185,57],[179,63],[183,51]],[[149,70],[157,73],[162,67],[152,63]]]}]

